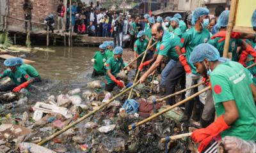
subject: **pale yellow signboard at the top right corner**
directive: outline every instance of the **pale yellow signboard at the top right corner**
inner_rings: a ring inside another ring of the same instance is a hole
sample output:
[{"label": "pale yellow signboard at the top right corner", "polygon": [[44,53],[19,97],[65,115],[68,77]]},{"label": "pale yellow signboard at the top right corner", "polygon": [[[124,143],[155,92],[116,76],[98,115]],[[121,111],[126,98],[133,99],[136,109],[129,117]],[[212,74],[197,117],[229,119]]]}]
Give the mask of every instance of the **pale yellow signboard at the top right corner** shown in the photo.
[{"label": "pale yellow signboard at the top right corner", "polygon": [[236,15],[233,31],[255,33],[252,29],[252,14],[256,9],[255,0],[237,0]]}]

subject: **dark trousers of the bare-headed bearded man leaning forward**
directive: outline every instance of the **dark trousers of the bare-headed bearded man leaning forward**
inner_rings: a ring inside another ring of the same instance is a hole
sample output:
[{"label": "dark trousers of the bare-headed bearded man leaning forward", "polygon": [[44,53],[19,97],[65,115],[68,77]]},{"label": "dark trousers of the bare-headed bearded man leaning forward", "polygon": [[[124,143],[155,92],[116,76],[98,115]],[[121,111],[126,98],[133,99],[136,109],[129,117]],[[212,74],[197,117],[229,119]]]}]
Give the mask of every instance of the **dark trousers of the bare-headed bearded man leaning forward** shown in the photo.
[{"label": "dark trousers of the bare-headed bearded man leaning forward", "polygon": [[[186,72],[184,67],[180,63],[180,61],[176,62],[170,71],[169,75],[166,77],[166,96],[173,94],[175,92],[175,87],[180,80],[181,89],[185,89],[186,82]],[[182,99],[185,98],[185,92],[182,93]],[[174,105],[175,104],[175,96],[172,98],[168,98],[166,101],[166,105]]]}]

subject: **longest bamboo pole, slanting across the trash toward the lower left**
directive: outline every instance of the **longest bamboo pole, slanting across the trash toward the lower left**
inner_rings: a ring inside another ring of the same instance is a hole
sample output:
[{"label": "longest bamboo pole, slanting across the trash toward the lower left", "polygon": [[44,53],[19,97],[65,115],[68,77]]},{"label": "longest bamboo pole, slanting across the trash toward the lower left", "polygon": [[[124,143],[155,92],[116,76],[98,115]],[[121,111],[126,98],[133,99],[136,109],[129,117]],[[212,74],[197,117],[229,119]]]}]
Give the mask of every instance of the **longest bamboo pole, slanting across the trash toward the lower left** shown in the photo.
[{"label": "longest bamboo pole, slanting across the trash toward the lower left", "polygon": [[52,140],[52,138],[55,138],[56,136],[60,135],[61,133],[65,132],[65,131],[67,131],[68,129],[72,128],[73,126],[76,126],[76,124],[78,124],[79,122],[82,122],[84,119],[87,119],[88,117],[90,117],[94,113],[98,112],[99,110],[101,110],[102,108],[107,106],[109,103],[114,101],[116,98],[118,98],[119,96],[121,96],[125,92],[129,91],[132,87],[135,87],[138,84],[139,84],[139,82],[137,82],[136,84],[132,85],[131,87],[125,89],[124,91],[120,92],[119,94],[116,94],[116,96],[114,96],[113,98],[109,99],[106,103],[100,105],[99,108],[93,110],[90,113],[87,113],[86,115],[84,115],[80,119],[76,120],[75,122],[72,122],[71,124],[68,124],[68,126],[66,126],[65,128],[61,129],[60,131],[54,133],[53,135],[48,136],[47,138],[45,138],[45,140],[43,140],[42,142],[38,143],[38,145],[44,145],[44,143],[49,142],[49,140]]}]

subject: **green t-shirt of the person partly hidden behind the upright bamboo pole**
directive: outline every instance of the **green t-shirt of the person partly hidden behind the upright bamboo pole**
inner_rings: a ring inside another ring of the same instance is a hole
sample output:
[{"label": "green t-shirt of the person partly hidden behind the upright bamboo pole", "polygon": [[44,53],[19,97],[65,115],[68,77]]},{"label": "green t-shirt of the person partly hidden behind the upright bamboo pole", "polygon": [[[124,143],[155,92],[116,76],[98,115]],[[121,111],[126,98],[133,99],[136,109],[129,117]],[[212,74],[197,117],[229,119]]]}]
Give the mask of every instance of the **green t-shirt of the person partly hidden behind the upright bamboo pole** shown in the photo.
[{"label": "green t-shirt of the person partly hidden behind the upright bamboo pole", "polygon": [[[216,37],[213,40],[209,40],[208,43],[214,46],[215,48],[217,48],[220,52],[220,56],[222,57],[225,41],[221,41],[220,43],[218,43],[220,39],[221,39],[220,37]],[[241,43],[242,43],[242,40],[240,39],[230,38],[228,52],[232,52],[232,61],[237,62],[239,60],[238,54],[237,54],[237,47],[241,46]]]}]

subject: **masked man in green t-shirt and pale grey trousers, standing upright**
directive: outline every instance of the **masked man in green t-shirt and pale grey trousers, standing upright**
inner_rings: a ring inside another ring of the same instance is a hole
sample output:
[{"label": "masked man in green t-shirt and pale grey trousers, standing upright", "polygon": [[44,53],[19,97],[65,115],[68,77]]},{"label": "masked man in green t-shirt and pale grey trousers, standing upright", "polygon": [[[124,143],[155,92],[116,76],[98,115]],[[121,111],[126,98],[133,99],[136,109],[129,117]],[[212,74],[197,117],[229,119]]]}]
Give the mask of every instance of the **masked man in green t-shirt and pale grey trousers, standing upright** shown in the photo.
[{"label": "masked man in green t-shirt and pale grey trousers, standing upright", "polygon": [[[207,8],[197,8],[193,13],[192,24],[195,25],[191,27],[186,33],[182,34],[181,42],[182,47],[186,50],[185,55],[181,54],[179,51],[179,60],[184,65],[186,71],[186,88],[191,87],[192,85],[198,84],[201,82],[202,77],[196,72],[195,66],[189,62],[189,55],[197,45],[201,43],[207,43],[210,39],[210,33],[206,29],[209,24],[209,10]],[[188,65],[189,64],[189,65]],[[204,85],[198,86],[198,91],[204,89]],[[191,96],[194,93],[194,90],[186,91],[186,98]],[[200,104],[205,104],[206,92],[199,95]],[[189,120],[193,112],[194,101],[193,99],[185,104],[185,116],[184,120]],[[201,109],[203,108],[200,107]]]}]

